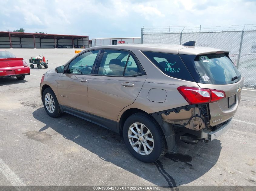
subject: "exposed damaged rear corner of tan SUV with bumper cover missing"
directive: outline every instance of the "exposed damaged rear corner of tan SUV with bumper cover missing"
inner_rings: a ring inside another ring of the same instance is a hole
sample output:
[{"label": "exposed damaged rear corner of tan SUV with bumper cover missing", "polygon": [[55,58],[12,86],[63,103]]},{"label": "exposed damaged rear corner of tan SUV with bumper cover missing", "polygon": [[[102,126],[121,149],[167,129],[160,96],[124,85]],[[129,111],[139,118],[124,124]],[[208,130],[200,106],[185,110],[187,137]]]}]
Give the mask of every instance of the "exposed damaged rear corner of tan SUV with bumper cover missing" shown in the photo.
[{"label": "exposed damaged rear corner of tan SUV with bumper cover missing", "polygon": [[224,132],[232,124],[232,118],[210,126],[207,104],[187,105],[170,110],[151,113],[161,126],[168,145],[168,152],[176,148],[175,134],[184,133],[180,139],[188,144],[196,144],[201,141],[212,141]]}]

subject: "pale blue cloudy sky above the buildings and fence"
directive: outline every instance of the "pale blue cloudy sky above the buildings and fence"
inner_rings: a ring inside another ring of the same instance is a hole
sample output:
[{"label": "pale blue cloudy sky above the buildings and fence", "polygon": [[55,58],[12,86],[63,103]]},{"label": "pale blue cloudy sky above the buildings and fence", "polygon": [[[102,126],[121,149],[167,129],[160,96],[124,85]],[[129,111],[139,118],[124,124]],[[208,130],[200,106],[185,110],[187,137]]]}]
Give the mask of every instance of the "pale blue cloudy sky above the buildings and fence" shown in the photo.
[{"label": "pale blue cloudy sky above the buildings and fence", "polygon": [[0,31],[140,37],[141,27],[256,24],[256,0],[0,1]]}]

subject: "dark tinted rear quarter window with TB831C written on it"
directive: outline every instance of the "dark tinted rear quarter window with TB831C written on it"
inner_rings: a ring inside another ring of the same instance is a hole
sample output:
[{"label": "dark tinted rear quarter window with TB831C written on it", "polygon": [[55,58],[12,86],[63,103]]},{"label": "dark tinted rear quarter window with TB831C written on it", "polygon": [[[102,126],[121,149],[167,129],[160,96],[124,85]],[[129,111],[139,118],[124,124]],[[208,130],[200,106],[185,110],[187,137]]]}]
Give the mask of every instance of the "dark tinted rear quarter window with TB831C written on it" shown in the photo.
[{"label": "dark tinted rear quarter window with TB831C written on it", "polygon": [[163,73],[173,78],[194,81],[178,54],[143,51]]}]

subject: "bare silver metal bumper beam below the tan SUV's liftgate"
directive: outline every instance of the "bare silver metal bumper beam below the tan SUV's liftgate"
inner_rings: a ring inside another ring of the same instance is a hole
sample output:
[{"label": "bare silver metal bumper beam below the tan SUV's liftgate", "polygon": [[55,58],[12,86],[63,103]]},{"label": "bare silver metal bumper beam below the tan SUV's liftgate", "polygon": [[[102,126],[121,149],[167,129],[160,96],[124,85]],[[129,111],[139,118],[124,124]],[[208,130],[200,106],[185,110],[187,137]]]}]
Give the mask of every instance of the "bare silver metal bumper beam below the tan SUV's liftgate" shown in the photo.
[{"label": "bare silver metal bumper beam below the tan SUV's liftgate", "polygon": [[202,138],[206,140],[212,141],[215,138],[221,136],[224,132],[226,132],[232,125],[232,118],[227,123],[224,123],[220,128],[216,129],[215,131],[210,131],[209,129],[202,130]]}]

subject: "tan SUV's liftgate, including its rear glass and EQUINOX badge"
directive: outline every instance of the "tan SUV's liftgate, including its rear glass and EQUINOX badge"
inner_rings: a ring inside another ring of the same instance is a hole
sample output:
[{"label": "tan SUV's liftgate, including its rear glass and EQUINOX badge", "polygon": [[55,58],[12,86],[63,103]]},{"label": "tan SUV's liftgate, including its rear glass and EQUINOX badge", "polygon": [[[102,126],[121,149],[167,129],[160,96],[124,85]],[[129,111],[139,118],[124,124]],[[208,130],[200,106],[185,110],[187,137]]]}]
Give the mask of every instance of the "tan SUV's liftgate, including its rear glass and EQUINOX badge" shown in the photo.
[{"label": "tan SUV's liftgate, including its rear glass and EQUINOX badge", "polygon": [[217,102],[209,103],[210,125],[215,126],[223,123],[234,116],[238,109],[244,78],[227,54],[214,53],[191,56],[194,56],[193,65],[197,70],[195,74],[197,73],[198,75],[195,78],[198,78],[199,87],[225,92],[224,98]]}]

